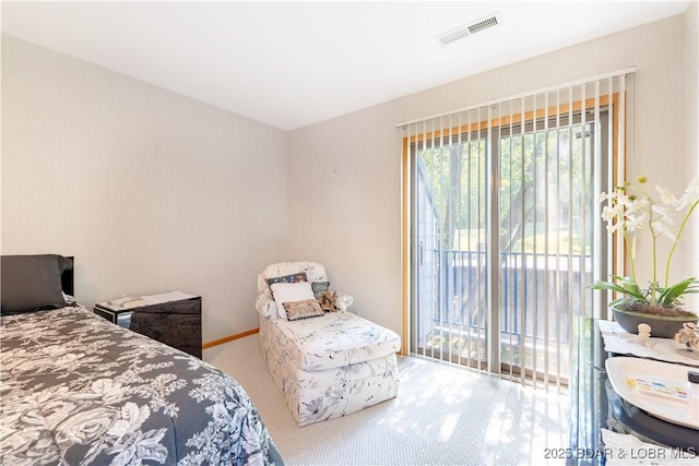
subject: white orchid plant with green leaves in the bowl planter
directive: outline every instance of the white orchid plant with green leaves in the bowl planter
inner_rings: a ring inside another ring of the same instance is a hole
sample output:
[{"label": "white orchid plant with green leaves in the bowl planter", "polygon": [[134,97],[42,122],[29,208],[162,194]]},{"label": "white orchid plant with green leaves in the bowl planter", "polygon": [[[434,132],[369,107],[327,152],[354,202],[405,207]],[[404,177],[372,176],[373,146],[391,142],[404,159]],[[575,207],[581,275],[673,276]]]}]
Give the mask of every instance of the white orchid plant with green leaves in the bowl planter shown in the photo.
[{"label": "white orchid plant with green leaves in the bowl planter", "polygon": [[[626,182],[612,193],[603,192],[600,195],[600,202],[607,202],[602,210],[607,231],[617,232],[624,238],[630,276],[612,275],[612,280],[594,282],[590,288],[612,290],[620,295],[611,306],[679,308],[685,295],[699,292],[696,277],[685,278],[673,285],[668,283],[671,261],[689,217],[699,204],[699,183],[694,179],[679,198],[666,189],[655,187],[657,196],[652,198],[645,189],[647,182],[645,177],[640,177],[637,184]],[[676,218],[680,218],[678,224]],[[677,229],[676,225],[679,225]],[[642,231],[650,232],[653,260],[653,276],[645,288],[639,286],[636,278],[636,235]],[[665,259],[665,276],[661,285],[657,277],[657,242],[663,237],[672,242],[672,247]]]}]

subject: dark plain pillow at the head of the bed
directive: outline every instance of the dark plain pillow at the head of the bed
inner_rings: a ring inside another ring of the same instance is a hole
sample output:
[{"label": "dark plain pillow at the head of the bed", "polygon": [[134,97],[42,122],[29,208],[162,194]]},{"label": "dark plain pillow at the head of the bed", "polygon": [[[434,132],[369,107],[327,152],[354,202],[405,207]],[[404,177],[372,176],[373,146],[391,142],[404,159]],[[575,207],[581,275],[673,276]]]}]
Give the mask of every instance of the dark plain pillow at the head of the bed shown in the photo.
[{"label": "dark plain pillow at the head of the bed", "polygon": [[0,258],[0,314],[13,315],[66,307],[61,274],[72,266],[58,254]]}]

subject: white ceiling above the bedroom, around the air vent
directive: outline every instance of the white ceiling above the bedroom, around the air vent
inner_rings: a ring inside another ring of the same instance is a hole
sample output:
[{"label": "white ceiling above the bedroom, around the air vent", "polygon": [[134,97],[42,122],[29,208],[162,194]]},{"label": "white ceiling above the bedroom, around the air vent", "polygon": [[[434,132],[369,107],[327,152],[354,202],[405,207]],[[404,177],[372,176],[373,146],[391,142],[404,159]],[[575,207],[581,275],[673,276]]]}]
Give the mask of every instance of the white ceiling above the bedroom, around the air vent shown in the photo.
[{"label": "white ceiling above the bedroom, around the air vent", "polygon": [[[3,1],[2,31],[292,130],[680,14],[689,3]],[[435,38],[497,11],[496,27],[448,46]]]}]

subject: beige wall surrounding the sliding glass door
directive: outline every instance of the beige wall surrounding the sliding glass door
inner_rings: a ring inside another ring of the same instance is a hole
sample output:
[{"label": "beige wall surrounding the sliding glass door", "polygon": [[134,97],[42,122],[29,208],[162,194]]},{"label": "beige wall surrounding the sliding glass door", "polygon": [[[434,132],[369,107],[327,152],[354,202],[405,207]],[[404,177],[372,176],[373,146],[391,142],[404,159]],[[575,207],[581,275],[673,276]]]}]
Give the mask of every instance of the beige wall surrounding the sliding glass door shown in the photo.
[{"label": "beige wall surrounding the sliding glass door", "polygon": [[[629,177],[648,175],[652,182],[684,189],[697,172],[696,147],[688,147],[686,135],[697,138],[697,100],[685,95],[686,27],[686,19],[675,16],[291,132],[291,255],[324,262],[333,285],[354,295],[363,315],[400,331],[401,131],[395,124],[630,65],[637,76]],[[695,124],[685,124],[691,108]],[[677,253],[678,276],[697,273],[695,258]]]}]

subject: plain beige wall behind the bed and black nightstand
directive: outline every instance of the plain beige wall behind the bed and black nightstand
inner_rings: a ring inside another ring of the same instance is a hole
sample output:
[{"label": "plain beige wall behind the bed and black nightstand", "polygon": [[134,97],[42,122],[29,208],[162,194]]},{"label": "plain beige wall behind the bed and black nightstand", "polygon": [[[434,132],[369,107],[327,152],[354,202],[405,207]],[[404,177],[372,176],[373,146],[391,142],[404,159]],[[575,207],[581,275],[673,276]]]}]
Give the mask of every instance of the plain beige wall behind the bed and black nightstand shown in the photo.
[{"label": "plain beige wall behind the bed and black nightstand", "polygon": [[2,253],[75,255],[85,304],[203,296],[204,342],[258,326],[286,252],[286,133],[2,37]]}]

